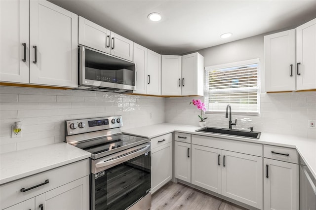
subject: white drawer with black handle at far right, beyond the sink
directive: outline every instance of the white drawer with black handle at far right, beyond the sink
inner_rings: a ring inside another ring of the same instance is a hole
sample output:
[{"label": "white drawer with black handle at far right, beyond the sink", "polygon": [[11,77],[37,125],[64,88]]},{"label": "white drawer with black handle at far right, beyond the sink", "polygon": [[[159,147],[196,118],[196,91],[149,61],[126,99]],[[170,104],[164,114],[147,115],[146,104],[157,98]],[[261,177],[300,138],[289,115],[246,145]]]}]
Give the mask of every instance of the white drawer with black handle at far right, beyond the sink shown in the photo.
[{"label": "white drawer with black handle at far right, beyond the sink", "polygon": [[298,153],[296,149],[281,146],[263,145],[263,155],[265,158],[298,164]]}]

